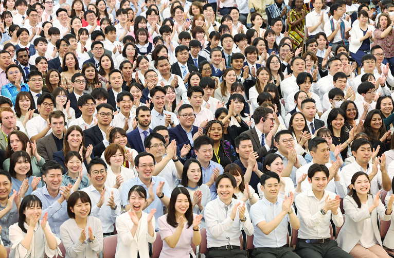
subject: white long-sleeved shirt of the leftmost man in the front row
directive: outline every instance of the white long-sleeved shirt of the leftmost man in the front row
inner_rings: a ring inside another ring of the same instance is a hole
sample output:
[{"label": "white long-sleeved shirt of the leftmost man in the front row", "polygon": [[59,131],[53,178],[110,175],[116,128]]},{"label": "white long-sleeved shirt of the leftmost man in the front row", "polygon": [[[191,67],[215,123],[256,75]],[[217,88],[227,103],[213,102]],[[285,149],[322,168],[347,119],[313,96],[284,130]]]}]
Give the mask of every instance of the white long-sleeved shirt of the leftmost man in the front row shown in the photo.
[{"label": "white long-sleeved shirt of the leftmost man in the front row", "polygon": [[238,210],[234,220],[230,218],[232,208],[238,204],[238,202],[244,203],[241,200],[232,198],[231,204],[226,206],[220,198],[216,198],[208,202],[205,206],[204,217],[207,224],[208,248],[226,245],[240,246],[239,236],[241,234],[241,229],[243,229],[247,235],[253,235],[253,225],[252,222],[250,222],[247,209],[244,214],[246,217],[245,222],[241,222]]}]

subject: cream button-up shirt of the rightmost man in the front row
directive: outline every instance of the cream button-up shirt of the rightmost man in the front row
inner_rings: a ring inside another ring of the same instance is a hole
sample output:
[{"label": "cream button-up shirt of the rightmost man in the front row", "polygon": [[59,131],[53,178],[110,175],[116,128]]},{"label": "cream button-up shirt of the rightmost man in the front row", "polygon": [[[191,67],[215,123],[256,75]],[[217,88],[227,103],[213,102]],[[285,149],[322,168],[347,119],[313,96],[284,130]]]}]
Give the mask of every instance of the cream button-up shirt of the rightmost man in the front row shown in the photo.
[{"label": "cream button-up shirt of the rightmost man in the front row", "polygon": [[335,226],[341,227],[344,224],[344,218],[341,209],[338,208],[337,214],[333,215],[331,210],[328,210],[326,215],[320,212],[320,209],[326,203],[326,196],[329,195],[334,199],[336,194],[325,190],[323,197],[318,200],[309,189],[295,198],[298,218],[300,220],[300,228],[298,229],[298,238],[300,239],[321,239],[329,238],[330,234],[330,220],[332,218]]}]

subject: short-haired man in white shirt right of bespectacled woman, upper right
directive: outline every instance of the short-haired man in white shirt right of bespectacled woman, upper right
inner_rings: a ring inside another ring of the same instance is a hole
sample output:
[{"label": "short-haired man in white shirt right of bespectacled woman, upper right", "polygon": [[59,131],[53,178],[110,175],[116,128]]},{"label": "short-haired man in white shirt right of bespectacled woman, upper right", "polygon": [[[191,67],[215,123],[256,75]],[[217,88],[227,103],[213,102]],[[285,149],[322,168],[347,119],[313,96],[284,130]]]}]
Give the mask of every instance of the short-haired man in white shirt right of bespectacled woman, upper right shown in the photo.
[{"label": "short-haired man in white shirt right of bespectacled woman, upper right", "polygon": [[[291,69],[293,70],[293,75],[289,78],[284,79],[281,83],[281,90],[285,107],[288,107],[289,105],[287,103],[289,95],[294,91],[298,90],[296,80],[297,76],[306,69],[305,59],[302,57],[293,58],[291,61]],[[285,109],[289,111],[289,107]]]}]

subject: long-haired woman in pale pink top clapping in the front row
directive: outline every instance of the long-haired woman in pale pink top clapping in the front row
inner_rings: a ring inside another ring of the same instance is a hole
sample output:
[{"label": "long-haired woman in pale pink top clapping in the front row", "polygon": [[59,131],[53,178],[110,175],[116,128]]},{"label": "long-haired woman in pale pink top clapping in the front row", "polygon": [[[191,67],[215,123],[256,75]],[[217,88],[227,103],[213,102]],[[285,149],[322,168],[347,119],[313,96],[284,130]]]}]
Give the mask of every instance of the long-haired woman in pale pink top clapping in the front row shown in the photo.
[{"label": "long-haired woman in pale pink top clapping in the front row", "polygon": [[201,243],[199,225],[202,214],[193,214],[189,192],[184,187],[172,191],[168,213],[158,218],[158,228],[163,241],[159,258],[195,258],[191,242]]}]

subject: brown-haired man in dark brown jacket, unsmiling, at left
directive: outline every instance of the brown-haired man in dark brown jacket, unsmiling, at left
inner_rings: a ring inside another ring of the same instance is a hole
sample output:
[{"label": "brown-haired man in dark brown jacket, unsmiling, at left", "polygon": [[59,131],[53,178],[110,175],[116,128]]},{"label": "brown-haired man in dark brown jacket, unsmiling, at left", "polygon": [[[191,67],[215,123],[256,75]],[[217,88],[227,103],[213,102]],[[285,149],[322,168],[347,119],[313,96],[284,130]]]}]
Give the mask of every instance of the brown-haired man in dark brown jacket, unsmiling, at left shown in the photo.
[{"label": "brown-haired man in dark brown jacket, unsmiling, at left", "polygon": [[52,133],[37,141],[37,152],[45,161],[53,159],[53,153],[63,150],[65,116],[63,111],[56,110],[48,116]]}]

